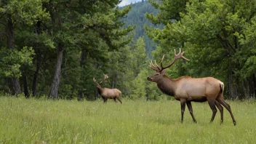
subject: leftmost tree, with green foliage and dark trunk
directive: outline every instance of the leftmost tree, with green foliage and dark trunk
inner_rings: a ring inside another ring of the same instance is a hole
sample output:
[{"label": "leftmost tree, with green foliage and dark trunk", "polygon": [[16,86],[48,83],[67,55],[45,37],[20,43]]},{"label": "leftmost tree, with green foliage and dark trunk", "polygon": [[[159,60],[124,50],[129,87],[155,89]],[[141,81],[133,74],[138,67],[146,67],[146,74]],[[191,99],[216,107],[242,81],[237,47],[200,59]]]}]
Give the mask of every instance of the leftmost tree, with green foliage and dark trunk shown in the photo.
[{"label": "leftmost tree, with green foliage and dark trunk", "polygon": [[[1,52],[3,62],[5,66],[9,68],[4,68],[5,76],[9,79],[9,90],[12,94],[20,94],[20,81],[21,68],[25,68],[25,63],[31,63],[31,55],[33,54],[32,49],[26,47],[20,47],[15,41],[17,38],[17,30],[21,27],[28,26],[31,27],[38,20],[48,17],[47,12],[41,6],[41,0],[36,1],[17,1],[17,0],[4,0],[0,1],[0,12],[1,12],[1,31],[5,31],[3,38],[6,44],[1,43]],[[7,49],[5,49],[7,47]],[[26,52],[28,52],[26,54]],[[10,57],[12,55],[12,57]],[[25,61],[21,57],[27,57]],[[23,65],[23,66],[22,66]],[[9,74],[7,74],[9,73]],[[26,81],[24,81],[24,86],[26,86]],[[25,89],[27,89],[25,87]],[[26,97],[28,97],[28,92],[26,92]]]}]

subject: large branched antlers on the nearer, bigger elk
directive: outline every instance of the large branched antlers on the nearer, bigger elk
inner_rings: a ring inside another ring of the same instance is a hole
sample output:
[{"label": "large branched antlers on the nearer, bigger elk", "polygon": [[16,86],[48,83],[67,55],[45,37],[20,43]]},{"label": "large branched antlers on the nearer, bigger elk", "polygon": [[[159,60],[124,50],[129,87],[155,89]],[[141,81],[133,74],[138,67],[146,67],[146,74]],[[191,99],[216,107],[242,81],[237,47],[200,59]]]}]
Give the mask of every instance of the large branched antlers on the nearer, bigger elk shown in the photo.
[{"label": "large branched antlers on the nearer, bigger elk", "polygon": [[[163,55],[163,57],[161,58],[161,62],[160,62],[161,67],[160,67],[159,65],[157,65],[156,60],[155,60],[155,65],[153,65],[153,63],[152,63],[152,61],[151,61],[151,62],[149,63],[149,66],[150,66],[154,71],[163,71],[164,69],[169,68],[170,66],[172,66],[173,63],[175,63],[175,61],[176,61],[177,59],[179,59],[179,58],[182,58],[183,60],[188,60],[187,58],[183,57],[183,54],[184,54],[184,51],[181,52],[181,50],[180,50],[180,52],[179,52],[178,54],[176,54],[176,50],[175,50],[175,58],[174,58],[174,60],[172,60],[172,63],[170,63],[169,65],[163,67],[163,65],[162,65],[163,60],[164,60],[164,55]],[[189,60],[188,60],[188,61],[189,61]]]}]

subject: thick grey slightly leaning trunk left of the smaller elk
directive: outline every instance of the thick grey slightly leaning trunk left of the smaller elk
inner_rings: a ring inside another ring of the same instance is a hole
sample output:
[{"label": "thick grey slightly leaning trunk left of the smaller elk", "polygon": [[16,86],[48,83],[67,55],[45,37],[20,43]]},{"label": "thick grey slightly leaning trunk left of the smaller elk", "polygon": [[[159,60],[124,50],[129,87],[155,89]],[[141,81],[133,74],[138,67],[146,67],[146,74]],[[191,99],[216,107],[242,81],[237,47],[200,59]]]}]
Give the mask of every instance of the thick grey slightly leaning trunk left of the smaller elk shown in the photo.
[{"label": "thick grey slightly leaning trunk left of the smaller elk", "polygon": [[64,46],[63,44],[58,44],[57,46],[57,63],[55,67],[55,76],[52,81],[52,86],[49,92],[49,97],[52,97],[54,99],[58,98],[57,92],[59,90],[60,85],[60,76],[61,76],[61,65],[63,63],[63,52],[64,52]]}]

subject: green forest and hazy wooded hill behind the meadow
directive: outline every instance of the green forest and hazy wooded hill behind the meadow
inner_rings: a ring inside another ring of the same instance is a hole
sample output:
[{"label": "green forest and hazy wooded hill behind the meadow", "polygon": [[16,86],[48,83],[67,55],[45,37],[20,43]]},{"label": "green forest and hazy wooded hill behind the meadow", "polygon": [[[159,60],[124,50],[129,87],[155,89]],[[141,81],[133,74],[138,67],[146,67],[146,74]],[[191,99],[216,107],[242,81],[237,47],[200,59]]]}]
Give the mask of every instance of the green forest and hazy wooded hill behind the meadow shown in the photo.
[{"label": "green forest and hazy wooded hill behind the meadow", "polygon": [[255,97],[255,1],[119,2],[0,1],[1,92],[95,100],[92,79],[107,73],[103,87],[122,97],[159,100],[148,63],[166,55],[167,65],[181,48],[190,61],[177,61],[168,76],[213,76],[224,82],[225,97]]}]

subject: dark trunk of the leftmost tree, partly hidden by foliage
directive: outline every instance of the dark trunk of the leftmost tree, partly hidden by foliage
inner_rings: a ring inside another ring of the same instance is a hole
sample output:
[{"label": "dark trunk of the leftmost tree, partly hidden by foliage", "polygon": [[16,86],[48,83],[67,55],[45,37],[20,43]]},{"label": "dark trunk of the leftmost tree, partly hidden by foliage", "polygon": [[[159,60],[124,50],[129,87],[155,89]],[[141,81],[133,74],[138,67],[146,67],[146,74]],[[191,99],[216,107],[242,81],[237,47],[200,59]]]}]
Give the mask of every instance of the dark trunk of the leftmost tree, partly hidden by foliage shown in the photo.
[{"label": "dark trunk of the leftmost tree, partly hidden by foliage", "polygon": [[[9,14],[7,14],[7,47],[9,49],[15,49],[14,26],[12,23],[12,17]],[[11,78],[10,81],[10,89],[13,89],[12,93],[15,93],[16,95],[20,94],[21,91],[19,79]]]}]

